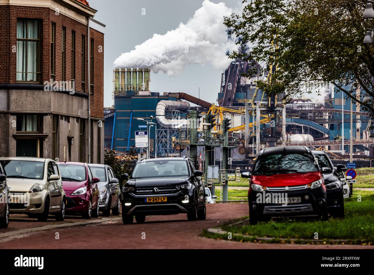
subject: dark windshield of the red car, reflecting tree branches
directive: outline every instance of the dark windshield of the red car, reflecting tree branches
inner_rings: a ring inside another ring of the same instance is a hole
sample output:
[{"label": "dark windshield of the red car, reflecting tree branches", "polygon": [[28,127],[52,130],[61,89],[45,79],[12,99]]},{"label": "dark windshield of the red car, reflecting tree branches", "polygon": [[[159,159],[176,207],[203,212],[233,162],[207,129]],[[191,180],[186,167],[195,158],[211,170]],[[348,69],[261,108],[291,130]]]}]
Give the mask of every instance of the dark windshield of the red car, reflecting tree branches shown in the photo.
[{"label": "dark windshield of the red car, reflecting tree branches", "polygon": [[318,172],[314,158],[307,153],[264,155],[257,158],[253,175]]}]

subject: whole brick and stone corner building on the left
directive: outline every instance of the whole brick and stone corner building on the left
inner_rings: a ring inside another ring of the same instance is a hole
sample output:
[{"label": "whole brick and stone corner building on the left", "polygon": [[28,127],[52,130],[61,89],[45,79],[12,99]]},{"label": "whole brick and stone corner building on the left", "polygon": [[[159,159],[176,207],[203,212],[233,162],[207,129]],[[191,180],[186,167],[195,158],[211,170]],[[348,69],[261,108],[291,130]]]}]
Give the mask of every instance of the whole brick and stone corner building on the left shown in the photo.
[{"label": "whole brick and stone corner building on the left", "polygon": [[95,13],[86,0],[0,1],[0,157],[103,163],[105,25]]}]

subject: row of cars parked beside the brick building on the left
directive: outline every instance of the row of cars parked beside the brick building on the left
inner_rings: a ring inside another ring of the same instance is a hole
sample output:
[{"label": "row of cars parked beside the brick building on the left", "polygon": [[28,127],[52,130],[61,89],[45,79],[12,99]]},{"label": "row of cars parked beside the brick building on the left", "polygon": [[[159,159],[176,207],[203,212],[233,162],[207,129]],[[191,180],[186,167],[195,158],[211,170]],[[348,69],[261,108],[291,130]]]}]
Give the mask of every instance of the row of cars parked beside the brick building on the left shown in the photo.
[{"label": "row of cars parked beside the brick building on the left", "polygon": [[58,221],[65,214],[86,219],[120,214],[119,180],[108,165],[60,162],[48,158],[0,158],[0,227],[9,213]]}]

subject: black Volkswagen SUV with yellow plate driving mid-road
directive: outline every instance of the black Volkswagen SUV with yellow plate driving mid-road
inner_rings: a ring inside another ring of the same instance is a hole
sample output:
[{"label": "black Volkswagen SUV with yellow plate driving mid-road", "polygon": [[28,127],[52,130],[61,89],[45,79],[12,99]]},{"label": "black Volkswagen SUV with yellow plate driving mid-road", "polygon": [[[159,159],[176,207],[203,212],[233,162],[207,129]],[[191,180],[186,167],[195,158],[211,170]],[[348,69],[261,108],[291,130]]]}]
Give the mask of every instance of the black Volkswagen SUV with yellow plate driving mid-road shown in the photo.
[{"label": "black Volkswagen SUV with yellow plate driving mid-road", "polygon": [[122,221],[145,222],[146,215],[187,213],[188,220],[206,218],[203,172],[189,158],[138,161],[122,187]]}]

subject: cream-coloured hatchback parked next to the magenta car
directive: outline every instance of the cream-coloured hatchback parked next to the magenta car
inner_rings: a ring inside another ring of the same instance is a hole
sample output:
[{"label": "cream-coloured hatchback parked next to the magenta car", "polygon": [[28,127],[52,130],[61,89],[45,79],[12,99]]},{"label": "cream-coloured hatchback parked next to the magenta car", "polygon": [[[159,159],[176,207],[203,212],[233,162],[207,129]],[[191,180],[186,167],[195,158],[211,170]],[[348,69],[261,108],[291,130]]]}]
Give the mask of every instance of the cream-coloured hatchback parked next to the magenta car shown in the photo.
[{"label": "cream-coloured hatchback parked next to the magenta car", "polygon": [[2,157],[6,173],[10,213],[23,213],[45,222],[49,214],[65,217],[65,192],[54,160],[33,157]]}]

